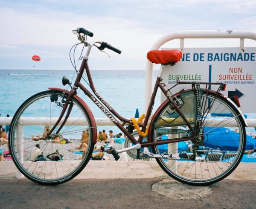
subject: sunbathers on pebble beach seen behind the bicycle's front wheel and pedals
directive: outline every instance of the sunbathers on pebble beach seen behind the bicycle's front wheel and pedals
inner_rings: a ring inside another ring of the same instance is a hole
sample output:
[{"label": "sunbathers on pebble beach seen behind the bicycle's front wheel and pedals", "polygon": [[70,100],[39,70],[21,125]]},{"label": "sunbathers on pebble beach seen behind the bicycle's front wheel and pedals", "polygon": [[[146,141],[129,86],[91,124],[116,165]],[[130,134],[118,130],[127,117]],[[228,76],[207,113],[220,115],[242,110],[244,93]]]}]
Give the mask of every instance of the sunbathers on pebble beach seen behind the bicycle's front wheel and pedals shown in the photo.
[{"label": "sunbathers on pebble beach seen behind the bicycle's front wheel and pedals", "polygon": [[[8,117],[9,115],[7,115]],[[26,159],[31,161],[38,160],[81,160],[87,151],[89,133],[84,130],[81,139],[69,139],[59,134],[55,139],[52,139],[51,150],[46,153],[46,140],[45,137],[50,130],[49,125],[45,125],[44,133],[40,136],[32,135],[32,138],[24,138],[24,144],[26,144],[26,150],[24,150]],[[9,125],[5,128],[0,126],[0,161],[12,160],[11,154],[9,153],[8,144],[8,131]],[[97,142],[94,146],[92,160],[114,160],[112,154],[108,154],[106,151],[113,147],[116,150],[122,149],[122,143],[124,138],[122,133],[113,134],[113,131],[109,131],[108,134],[105,130],[99,131],[97,134]],[[122,140],[118,140],[122,139]]]}]

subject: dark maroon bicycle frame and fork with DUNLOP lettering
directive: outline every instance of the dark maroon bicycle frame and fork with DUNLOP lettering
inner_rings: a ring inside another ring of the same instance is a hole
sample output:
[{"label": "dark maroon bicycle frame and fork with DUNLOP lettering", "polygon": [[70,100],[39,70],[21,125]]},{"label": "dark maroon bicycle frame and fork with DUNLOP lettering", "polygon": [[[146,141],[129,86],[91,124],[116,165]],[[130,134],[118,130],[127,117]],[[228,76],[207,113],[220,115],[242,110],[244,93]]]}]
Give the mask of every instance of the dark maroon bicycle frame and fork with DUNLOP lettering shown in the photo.
[{"label": "dark maroon bicycle frame and fork with DUNLOP lettering", "polygon": [[[90,85],[90,89],[93,91],[94,95],[92,93],[90,93],[89,90],[87,90],[83,84],[81,84],[81,78],[82,75],[84,73],[84,70],[87,73],[87,78],[89,81],[89,85]],[[154,91],[152,93],[149,105],[148,105],[148,110],[144,119],[143,123],[138,123],[138,125],[140,127],[142,127],[142,131],[144,132],[146,130],[147,124],[148,124],[148,119],[149,116],[151,115],[152,112],[152,108],[154,105],[154,99],[155,96],[157,94],[157,89],[158,87],[160,87],[160,89],[163,91],[163,93],[166,95],[166,97],[169,99],[170,96],[168,94],[168,90],[166,90],[163,85],[160,83],[161,78],[157,77],[157,81],[155,83],[154,86]],[[57,125],[59,124],[59,122],[61,121],[62,117],[64,116],[67,107],[68,107],[68,111],[67,111],[67,115],[65,116],[64,121],[62,122],[62,124],[60,125],[60,127],[58,128],[58,131],[56,132],[57,134],[59,133],[59,131],[61,130],[61,128],[64,126],[65,122],[67,121],[69,114],[72,110],[72,105],[69,105],[69,102],[71,100],[71,98],[76,94],[76,89],[80,88],[101,110],[102,112],[104,112],[106,114],[106,116],[108,116],[108,118],[110,118],[112,120],[112,122],[126,135],[128,136],[128,138],[131,140],[131,142],[133,142],[134,144],[140,143],[141,147],[148,147],[148,146],[152,146],[152,145],[162,145],[162,144],[168,144],[168,143],[174,143],[174,142],[180,142],[180,141],[186,141],[186,140],[195,140],[195,138],[190,138],[190,137],[184,137],[182,139],[177,138],[177,139],[165,139],[165,140],[160,140],[157,142],[142,142],[143,141],[143,136],[140,136],[138,141],[136,139],[134,139],[134,137],[124,128],[125,124],[129,124],[129,125],[133,125],[132,122],[129,119],[125,119],[124,117],[120,116],[109,104],[108,102],[102,98],[102,96],[100,96],[93,84],[93,79],[92,76],[90,74],[90,69],[87,63],[86,59],[83,59],[81,67],[79,69],[79,73],[76,77],[76,81],[73,85],[73,89],[68,93],[68,97],[67,100],[64,104],[64,107],[61,111],[61,114],[59,116],[59,119],[57,120],[57,122],[55,123],[55,125],[52,127],[51,131],[49,132],[49,135],[53,132],[53,130],[57,127]],[[100,99],[101,102],[99,102],[98,99]],[[169,99],[172,102],[172,99]],[[104,102],[103,102],[104,101]],[[187,126],[189,127],[190,131],[192,131],[193,133],[195,133],[195,130],[192,128],[192,126],[189,124],[189,122],[187,121],[186,117],[183,115],[182,111],[180,110],[180,108],[177,106],[177,104],[175,102],[172,102],[173,107],[177,110],[177,112],[180,114],[180,116],[184,119],[184,121],[187,123]],[[122,124],[120,122],[118,122],[116,120],[116,118],[118,118]]]}]

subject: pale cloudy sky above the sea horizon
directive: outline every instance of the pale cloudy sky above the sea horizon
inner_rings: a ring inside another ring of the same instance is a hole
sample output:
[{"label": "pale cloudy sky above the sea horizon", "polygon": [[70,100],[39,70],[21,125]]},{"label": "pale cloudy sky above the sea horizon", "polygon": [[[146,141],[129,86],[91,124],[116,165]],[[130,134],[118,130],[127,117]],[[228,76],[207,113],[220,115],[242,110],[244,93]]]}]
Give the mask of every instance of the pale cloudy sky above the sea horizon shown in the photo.
[{"label": "pale cloudy sky above the sea horizon", "polygon": [[[246,30],[256,33],[255,0],[1,0],[0,69],[72,70],[72,30],[93,32],[122,50],[93,48],[91,70],[145,70],[146,54],[162,36],[179,30]],[[245,40],[245,47],[256,41]],[[179,47],[169,41],[163,47]],[[185,47],[239,47],[239,40],[185,40]],[[76,50],[78,58],[81,48]],[[39,55],[40,62],[32,61]],[[33,67],[35,66],[35,68]]]}]

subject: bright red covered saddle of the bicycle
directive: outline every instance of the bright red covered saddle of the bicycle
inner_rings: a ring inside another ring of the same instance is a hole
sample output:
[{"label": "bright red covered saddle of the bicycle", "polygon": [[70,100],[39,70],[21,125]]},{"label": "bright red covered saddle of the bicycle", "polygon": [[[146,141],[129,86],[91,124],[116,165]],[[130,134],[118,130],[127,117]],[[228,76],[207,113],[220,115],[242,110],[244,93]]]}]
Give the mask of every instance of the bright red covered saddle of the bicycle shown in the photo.
[{"label": "bright red covered saddle of the bicycle", "polygon": [[155,64],[171,64],[174,65],[177,63],[182,56],[182,52],[178,49],[171,50],[152,50],[147,54],[149,61]]}]

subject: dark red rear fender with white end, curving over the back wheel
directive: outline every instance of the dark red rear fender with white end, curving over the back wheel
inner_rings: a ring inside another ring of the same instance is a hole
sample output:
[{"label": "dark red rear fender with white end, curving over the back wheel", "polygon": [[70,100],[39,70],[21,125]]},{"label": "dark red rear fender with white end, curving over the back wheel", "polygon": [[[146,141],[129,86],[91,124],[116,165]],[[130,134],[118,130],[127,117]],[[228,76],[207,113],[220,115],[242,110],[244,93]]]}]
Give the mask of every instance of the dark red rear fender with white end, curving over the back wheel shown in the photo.
[{"label": "dark red rear fender with white end, curving over the back wheel", "polygon": [[[213,91],[213,90],[208,90],[208,89],[203,89],[204,91],[208,91],[209,93],[216,93],[216,91]],[[176,93],[175,95],[172,96],[172,99],[175,98],[175,96],[179,96],[181,93],[185,93],[185,92],[189,92],[189,91],[194,91],[193,89],[188,89],[188,90],[183,90],[183,91],[180,91],[178,93]],[[228,98],[227,96],[225,96],[224,94],[222,93],[218,93],[219,96],[223,97],[224,99],[227,99],[231,104],[234,105],[234,107],[236,107],[236,110],[239,112],[239,114],[241,114],[242,116],[242,119],[244,121],[244,125],[246,127],[248,127],[247,125],[247,122],[244,118],[244,114],[242,113],[242,111],[239,109],[239,107],[237,107],[237,105],[235,104],[235,102],[233,102],[230,98]],[[151,142],[151,134],[152,134],[152,125],[153,125],[153,122],[154,122],[154,119],[155,117],[158,115],[158,113],[160,112],[160,110],[169,102],[169,99],[166,99],[166,101],[164,101],[159,107],[158,109],[156,110],[156,112],[154,113],[152,119],[151,119],[151,122],[149,124],[149,130],[148,130],[148,141]]]}]

